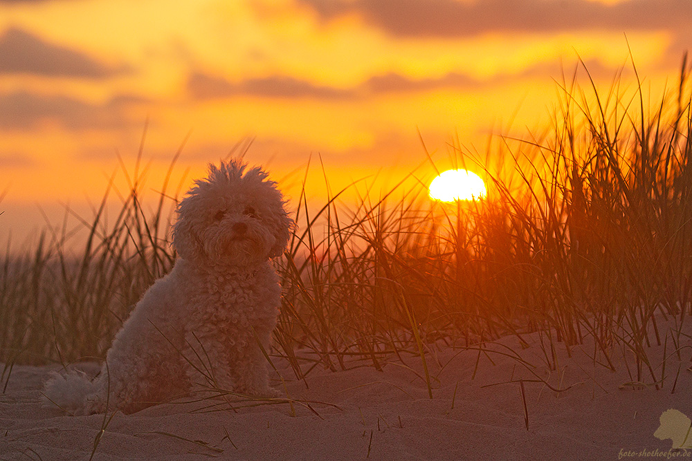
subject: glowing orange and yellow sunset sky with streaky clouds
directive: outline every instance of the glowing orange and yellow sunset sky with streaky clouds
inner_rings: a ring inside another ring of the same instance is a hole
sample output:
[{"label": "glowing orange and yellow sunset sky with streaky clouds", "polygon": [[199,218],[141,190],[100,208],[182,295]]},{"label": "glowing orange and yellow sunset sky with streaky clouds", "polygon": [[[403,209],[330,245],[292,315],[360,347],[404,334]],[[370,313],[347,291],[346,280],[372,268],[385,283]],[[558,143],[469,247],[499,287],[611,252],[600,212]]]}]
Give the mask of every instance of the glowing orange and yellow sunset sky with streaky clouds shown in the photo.
[{"label": "glowing orange and yellow sunset sky with streaky clouds", "polygon": [[183,143],[183,189],[247,140],[294,202],[309,162],[314,200],[320,162],[333,191],[431,180],[426,149],[540,131],[579,59],[670,87],[690,24],[691,0],[0,0],[0,245],[88,215],[143,138],[154,198]]}]

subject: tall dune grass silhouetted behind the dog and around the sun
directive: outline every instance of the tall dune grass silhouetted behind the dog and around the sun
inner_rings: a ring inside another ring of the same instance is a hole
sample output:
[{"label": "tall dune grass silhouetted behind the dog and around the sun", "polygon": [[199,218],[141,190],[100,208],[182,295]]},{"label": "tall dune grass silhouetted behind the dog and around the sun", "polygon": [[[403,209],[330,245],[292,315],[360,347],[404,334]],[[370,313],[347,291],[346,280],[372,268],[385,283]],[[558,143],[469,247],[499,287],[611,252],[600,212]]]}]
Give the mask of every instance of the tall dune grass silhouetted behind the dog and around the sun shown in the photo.
[{"label": "tall dune grass silhouetted behind the dog and around the sun", "polygon": [[[679,356],[692,305],[688,70],[683,59],[675,86],[650,103],[636,72],[634,91],[618,78],[603,93],[584,69],[585,86],[576,73],[558,82],[540,138],[502,138],[484,156],[452,144],[459,164],[486,179],[486,200],[433,203],[422,184],[356,205],[336,193],[320,207],[301,194],[295,235],[275,261],[284,297],[271,353],[297,379],[315,366],[358,359],[380,369],[415,355],[432,397],[429,344],[538,331],[549,368],[556,348],[591,338],[594,361],[614,369],[614,350],[629,350],[632,382],[659,387],[665,364],[648,347]],[[109,194],[80,218],[89,236],[78,257],[66,226],[3,257],[3,379],[15,363],[104,357],[132,305],[172,267],[167,227],[180,191],[166,181],[145,209],[145,172],[135,171],[115,220],[103,219]],[[657,318],[671,317],[676,331],[659,330]]]}]

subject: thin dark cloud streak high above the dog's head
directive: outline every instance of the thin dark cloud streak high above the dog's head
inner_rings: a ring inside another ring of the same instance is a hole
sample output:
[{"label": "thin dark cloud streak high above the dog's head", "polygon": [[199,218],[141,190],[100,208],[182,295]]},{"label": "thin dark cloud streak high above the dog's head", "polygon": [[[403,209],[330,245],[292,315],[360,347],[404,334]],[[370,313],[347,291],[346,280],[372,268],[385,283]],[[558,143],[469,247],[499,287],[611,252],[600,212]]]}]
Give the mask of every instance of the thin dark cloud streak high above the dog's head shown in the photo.
[{"label": "thin dark cloud streak high above the dog's head", "polygon": [[316,86],[293,77],[273,76],[247,79],[238,84],[223,77],[194,73],[188,79],[188,91],[197,99],[212,99],[237,95],[255,97],[340,99],[348,92],[328,86]]}]

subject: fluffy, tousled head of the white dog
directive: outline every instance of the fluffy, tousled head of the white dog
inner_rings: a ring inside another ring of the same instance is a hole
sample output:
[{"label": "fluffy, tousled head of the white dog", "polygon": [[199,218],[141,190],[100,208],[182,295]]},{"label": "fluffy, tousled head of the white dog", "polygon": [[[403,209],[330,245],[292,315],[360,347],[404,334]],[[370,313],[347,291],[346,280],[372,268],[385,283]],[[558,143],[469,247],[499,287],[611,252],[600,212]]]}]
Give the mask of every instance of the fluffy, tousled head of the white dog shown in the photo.
[{"label": "fluffy, tousled head of the white dog", "polygon": [[201,265],[252,267],[280,256],[293,225],[276,183],[237,160],[210,164],[176,211],[173,245]]}]

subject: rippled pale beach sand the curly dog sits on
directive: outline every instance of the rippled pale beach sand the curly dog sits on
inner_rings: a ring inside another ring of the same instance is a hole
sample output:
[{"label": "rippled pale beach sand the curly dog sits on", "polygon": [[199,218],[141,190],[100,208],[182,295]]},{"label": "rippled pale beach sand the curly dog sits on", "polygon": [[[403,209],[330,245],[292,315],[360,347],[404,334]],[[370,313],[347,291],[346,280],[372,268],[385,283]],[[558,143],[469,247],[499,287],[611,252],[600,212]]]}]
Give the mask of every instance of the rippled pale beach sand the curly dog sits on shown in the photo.
[{"label": "rippled pale beach sand the curly dog sits on", "polygon": [[[659,324],[662,341],[668,335],[666,355],[673,351],[671,328]],[[692,455],[671,451],[671,438],[654,435],[664,411],[674,408],[692,415],[689,337],[681,339],[680,359],[674,354],[666,360],[658,390],[646,367],[641,380],[648,385],[631,384],[637,381],[634,355],[621,346],[612,352],[617,368],[612,372],[594,363],[588,344],[574,346],[572,357],[558,344],[556,364],[548,364],[539,335],[523,338],[523,347],[516,337],[505,337],[486,344],[481,353],[442,341],[428,345],[432,399],[416,355],[404,355],[403,363],[386,357],[382,371],[353,358],[345,361],[347,370],[320,365],[304,380],[295,379],[287,361],[275,359],[290,397],[309,402],[294,402],[295,414],[286,400],[238,402],[235,410],[214,400],[160,404],[132,415],[115,413],[109,420],[104,415],[73,417],[39,402],[42,382],[59,367],[15,366],[0,394],[0,460],[88,460],[92,452],[94,460],[617,460]],[[660,380],[663,347],[646,351]],[[82,367],[95,372],[98,364]],[[306,364],[304,370],[308,368]],[[545,382],[536,382],[539,379]],[[216,407],[206,408],[210,403]]]}]

